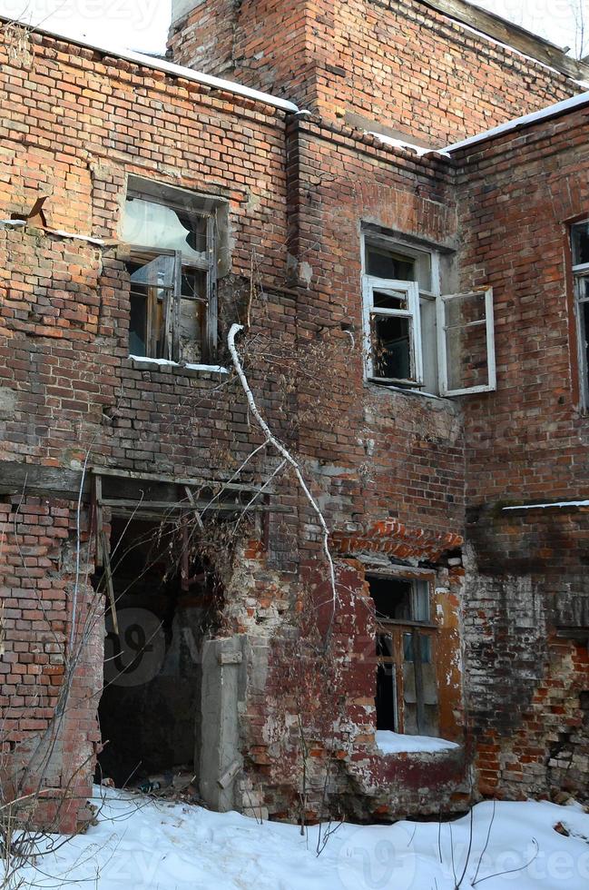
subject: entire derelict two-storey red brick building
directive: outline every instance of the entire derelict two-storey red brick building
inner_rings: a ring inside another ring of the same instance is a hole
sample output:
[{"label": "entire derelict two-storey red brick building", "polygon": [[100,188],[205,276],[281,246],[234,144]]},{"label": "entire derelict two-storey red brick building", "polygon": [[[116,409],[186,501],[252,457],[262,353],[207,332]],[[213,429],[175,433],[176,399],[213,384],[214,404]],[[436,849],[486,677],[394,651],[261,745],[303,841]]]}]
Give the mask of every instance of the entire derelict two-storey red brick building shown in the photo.
[{"label": "entire derelict two-storey red brick building", "polygon": [[172,7],[165,59],[0,30],[5,799],[586,795],[589,68],[463,0]]}]

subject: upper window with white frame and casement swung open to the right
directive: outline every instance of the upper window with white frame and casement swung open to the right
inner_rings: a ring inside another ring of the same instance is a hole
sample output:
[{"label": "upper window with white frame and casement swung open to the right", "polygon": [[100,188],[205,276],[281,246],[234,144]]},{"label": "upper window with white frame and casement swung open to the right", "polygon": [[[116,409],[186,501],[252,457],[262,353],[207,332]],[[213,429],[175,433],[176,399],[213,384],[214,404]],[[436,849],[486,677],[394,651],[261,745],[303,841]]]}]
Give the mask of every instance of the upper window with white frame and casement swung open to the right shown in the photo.
[{"label": "upper window with white frame and casement swung open to the right", "polygon": [[442,395],[496,389],[493,291],[442,294],[447,253],[364,236],[364,331],[370,381]]}]

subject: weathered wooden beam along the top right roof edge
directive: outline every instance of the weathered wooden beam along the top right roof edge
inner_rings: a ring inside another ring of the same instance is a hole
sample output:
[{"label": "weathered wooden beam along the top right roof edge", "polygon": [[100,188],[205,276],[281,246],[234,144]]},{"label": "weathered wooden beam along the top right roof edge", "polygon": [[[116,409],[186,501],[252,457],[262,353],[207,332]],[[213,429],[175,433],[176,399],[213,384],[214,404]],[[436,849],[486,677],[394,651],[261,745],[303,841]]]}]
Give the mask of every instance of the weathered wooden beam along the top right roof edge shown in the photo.
[{"label": "weathered wooden beam along the top right roof edge", "polygon": [[[507,44],[520,53],[529,55],[538,62],[550,65],[561,74],[572,77],[574,80],[586,80],[589,78],[589,65],[577,62],[565,55],[560,46],[543,40],[519,25],[507,22],[500,15],[489,13],[485,9],[479,9],[466,3],[466,0],[419,0],[430,9],[435,9],[442,15],[454,19],[463,25],[469,25],[502,44]],[[381,5],[389,7],[388,0]]]}]

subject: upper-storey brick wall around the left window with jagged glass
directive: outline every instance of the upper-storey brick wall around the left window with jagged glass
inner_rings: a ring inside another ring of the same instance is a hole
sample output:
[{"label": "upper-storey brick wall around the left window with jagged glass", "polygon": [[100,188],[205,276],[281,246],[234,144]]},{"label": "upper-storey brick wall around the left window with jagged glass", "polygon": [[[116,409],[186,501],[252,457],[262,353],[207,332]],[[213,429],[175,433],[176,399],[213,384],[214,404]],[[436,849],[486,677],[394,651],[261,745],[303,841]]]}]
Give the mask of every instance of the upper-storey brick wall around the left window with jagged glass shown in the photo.
[{"label": "upper-storey brick wall around the left window with jagged glass", "polygon": [[91,450],[91,463],[211,475],[229,453],[227,473],[250,448],[230,375],[129,358],[125,198],[133,174],[222,202],[221,342],[243,318],[254,254],[266,309],[292,335],[292,297],[273,290],[286,274],[283,114],[34,41],[31,67],[5,59],[0,75],[0,219],[46,199],[43,218],[0,231],[2,457],[68,467]]}]

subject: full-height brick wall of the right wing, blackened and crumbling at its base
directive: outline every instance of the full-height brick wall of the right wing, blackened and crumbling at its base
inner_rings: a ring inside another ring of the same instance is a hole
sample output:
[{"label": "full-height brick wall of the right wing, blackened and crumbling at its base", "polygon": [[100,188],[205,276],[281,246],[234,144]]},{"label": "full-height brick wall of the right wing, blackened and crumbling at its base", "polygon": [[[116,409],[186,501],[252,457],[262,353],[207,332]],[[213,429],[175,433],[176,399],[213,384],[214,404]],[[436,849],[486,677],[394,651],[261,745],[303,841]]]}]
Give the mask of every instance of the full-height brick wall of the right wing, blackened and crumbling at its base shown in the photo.
[{"label": "full-height brick wall of the right wing, blackened and crumbling at its base", "polygon": [[589,672],[571,639],[589,624],[586,511],[505,508],[587,497],[568,240],[570,221],[589,214],[588,118],[579,110],[457,159],[462,283],[494,288],[497,358],[497,391],[463,400],[466,673],[484,787],[506,795],[583,793],[587,781]]}]

